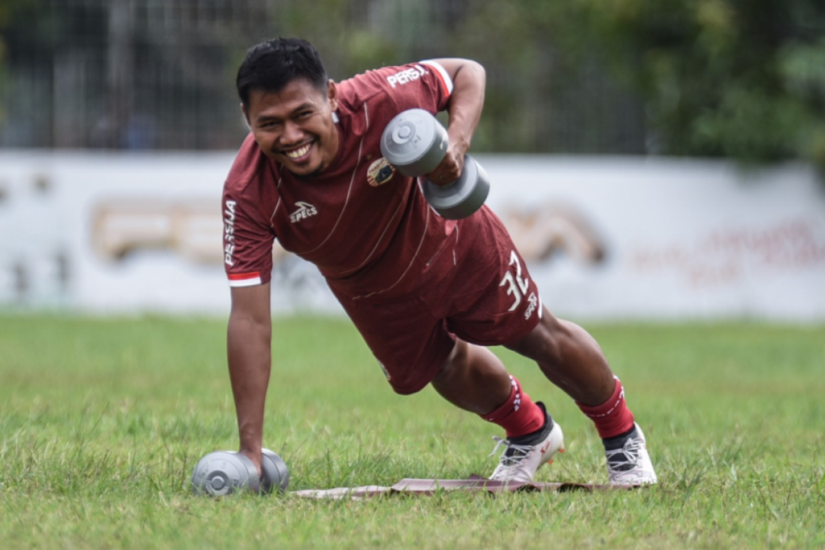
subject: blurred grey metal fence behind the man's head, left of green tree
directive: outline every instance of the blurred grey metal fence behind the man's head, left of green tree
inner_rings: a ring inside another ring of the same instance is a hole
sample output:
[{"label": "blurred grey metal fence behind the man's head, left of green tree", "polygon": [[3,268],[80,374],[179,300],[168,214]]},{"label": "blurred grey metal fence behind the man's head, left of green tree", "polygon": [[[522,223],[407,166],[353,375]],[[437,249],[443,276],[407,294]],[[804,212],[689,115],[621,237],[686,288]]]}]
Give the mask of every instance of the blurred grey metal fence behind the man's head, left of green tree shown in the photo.
[{"label": "blurred grey metal fence behind the man's head, left of green tree", "polygon": [[[644,152],[640,101],[611,82],[595,61],[569,63],[554,49],[552,37],[502,36],[496,28],[462,31],[471,15],[489,5],[488,0],[12,2],[7,23],[0,26],[5,52],[0,146],[236,148],[246,132],[233,86],[243,53],[272,35],[301,35],[318,46],[336,79],[428,57],[479,59],[488,68],[488,101],[475,150]],[[518,9],[517,2],[512,9]]]}]

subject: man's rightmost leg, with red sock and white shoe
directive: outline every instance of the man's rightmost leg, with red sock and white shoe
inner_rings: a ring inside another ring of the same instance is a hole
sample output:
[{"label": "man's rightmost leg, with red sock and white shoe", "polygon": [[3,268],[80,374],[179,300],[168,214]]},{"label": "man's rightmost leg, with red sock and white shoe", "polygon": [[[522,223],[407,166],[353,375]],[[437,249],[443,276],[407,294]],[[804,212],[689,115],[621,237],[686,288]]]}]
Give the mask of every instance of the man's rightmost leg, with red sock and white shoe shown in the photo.
[{"label": "man's rightmost leg, with red sock and white shoe", "polygon": [[507,347],[535,360],[544,376],[573,397],[593,421],[605,444],[610,482],[657,482],[644,435],[599,345],[582,327],[554,317],[546,308],[542,313],[527,336]]}]

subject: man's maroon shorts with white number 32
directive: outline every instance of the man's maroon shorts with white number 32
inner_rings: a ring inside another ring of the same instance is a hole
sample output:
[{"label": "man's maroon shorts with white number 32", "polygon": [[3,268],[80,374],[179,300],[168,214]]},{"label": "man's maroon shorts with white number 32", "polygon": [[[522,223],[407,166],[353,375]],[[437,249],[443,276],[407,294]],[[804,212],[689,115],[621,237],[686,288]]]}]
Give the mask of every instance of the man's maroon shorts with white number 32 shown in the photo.
[{"label": "man's maroon shorts with white number 32", "polygon": [[506,345],[540,320],[539,291],[501,220],[484,208],[449,238],[414,293],[353,300],[332,289],[397,393],[427,386],[456,337]]}]

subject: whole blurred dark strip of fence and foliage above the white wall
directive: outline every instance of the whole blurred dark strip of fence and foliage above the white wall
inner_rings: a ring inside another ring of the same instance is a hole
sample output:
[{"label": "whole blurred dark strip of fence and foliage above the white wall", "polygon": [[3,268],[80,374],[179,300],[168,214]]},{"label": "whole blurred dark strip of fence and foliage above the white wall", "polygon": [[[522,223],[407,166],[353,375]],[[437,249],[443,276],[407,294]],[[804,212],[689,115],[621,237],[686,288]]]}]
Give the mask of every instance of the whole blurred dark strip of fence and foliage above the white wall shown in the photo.
[{"label": "whole blurred dark strip of fence and foliage above the white wall", "polygon": [[476,151],[825,167],[822,0],[0,0],[0,145],[236,148],[234,73],[275,35],[337,80],[479,60]]}]

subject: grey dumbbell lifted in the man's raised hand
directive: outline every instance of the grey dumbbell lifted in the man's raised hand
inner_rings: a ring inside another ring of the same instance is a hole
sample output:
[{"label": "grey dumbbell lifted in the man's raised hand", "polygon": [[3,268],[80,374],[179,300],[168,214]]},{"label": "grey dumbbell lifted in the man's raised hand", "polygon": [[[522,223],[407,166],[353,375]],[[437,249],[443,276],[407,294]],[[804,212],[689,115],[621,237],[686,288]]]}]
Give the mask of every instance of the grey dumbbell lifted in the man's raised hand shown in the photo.
[{"label": "grey dumbbell lifted in the man's raised hand", "polygon": [[[396,115],[381,135],[381,154],[404,176],[423,176],[434,170],[447,153],[447,130],[423,109]],[[481,208],[490,192],[487,172],[473,157],[464,156],[458,180],[439,186],[425,180],[424,197],[446,219],[462,219]]]}]

